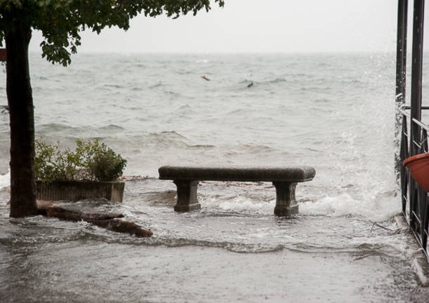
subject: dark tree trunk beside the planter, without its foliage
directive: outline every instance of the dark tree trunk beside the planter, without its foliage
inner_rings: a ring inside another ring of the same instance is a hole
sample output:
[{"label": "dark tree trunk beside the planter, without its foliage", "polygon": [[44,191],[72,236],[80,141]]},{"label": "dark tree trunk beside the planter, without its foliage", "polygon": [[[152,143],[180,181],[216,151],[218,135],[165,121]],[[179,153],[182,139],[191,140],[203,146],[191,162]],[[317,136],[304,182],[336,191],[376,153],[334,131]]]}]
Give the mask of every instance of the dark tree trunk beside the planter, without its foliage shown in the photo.
[{"label": "dark tree trunk beside the planter, without its foliage", "polygon": [[[19,19],[18,19],[19,20]],[[34,108],[28,44],[31,27],[15,22],[6,34],[6,93],[11,125],[11,217],[38,213],[34,183]]]}]

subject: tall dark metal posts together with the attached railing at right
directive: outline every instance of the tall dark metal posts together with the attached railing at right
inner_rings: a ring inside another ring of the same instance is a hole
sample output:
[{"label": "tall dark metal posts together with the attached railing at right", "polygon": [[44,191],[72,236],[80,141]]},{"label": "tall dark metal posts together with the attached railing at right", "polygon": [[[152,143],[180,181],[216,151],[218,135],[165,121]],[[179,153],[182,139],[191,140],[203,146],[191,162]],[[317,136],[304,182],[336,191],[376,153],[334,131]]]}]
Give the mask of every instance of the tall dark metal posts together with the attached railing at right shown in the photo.
[{"label": "tall dark metal posts together with the attached railing at right", "polygon": [[[395,170],[399,176],[402,212],[409,222],[411,231],[418,243],[428,255],[428,221],[429,199],[428,193],[423,190],[413,176],[409,174],[402,162],[414,155],[428,153],[429,127],[422,122],[422,110],[429,107],[422,106],[423,80],[423,25],[425,0],[414,0],[413,11],[413,41],[411,58],[411,106],[405,106],[406,99],[406,32],[408,0],[398,0],[397,19],[397,70],[396,70],[396,134],[395,143],[399,153],[395,153]],[[402,129],[402,131],[401,131]],[[400,140],[399,140],[400,137]],[[428,176],[429,178],[429,176]]]}]

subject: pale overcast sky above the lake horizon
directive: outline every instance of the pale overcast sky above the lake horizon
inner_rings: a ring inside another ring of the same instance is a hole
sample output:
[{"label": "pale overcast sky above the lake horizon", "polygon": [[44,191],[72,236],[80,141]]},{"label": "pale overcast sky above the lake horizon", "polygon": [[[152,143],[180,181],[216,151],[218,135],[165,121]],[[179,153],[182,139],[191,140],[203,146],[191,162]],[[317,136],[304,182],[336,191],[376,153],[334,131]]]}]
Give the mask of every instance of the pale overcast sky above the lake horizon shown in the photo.
[{"label": "pale overcast sky above the lake horizon", "polygon": [[[397,0],[225,0],[176,20],[139,15],[127,32],[84,32],[78,53],[395,51],[396,22]],[[34,32],[30,50],[40,42]]]}]

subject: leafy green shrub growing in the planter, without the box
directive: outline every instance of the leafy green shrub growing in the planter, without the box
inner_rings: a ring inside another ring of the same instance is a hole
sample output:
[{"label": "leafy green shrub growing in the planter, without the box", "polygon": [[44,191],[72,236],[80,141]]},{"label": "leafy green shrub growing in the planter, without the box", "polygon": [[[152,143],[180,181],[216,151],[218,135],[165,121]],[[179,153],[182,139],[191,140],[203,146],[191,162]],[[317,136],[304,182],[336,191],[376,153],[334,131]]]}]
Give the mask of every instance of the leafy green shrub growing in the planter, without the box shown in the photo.
[{"label": "leafy green shrub growing in the planter, without the box", "polygon": [[96,141],[76,141],[75,150],[60,149],[35,141],[34,170],[38,180],[115,181],[127,166],[127,160],[111,148]]}]

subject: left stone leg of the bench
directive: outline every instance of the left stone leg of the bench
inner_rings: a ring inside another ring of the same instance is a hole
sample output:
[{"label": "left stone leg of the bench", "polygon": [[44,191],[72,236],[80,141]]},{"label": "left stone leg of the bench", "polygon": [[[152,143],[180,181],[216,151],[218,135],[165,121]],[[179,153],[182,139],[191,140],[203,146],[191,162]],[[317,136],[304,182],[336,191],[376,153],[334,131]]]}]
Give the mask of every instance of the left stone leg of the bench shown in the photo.
[{"label": "left stone leg of the bench", "polygon": [[176,212],[188,212],[201,208],[197,199],[198,181],[174,180],[174,184],[177,186],[177,204],[174,205]]}]

